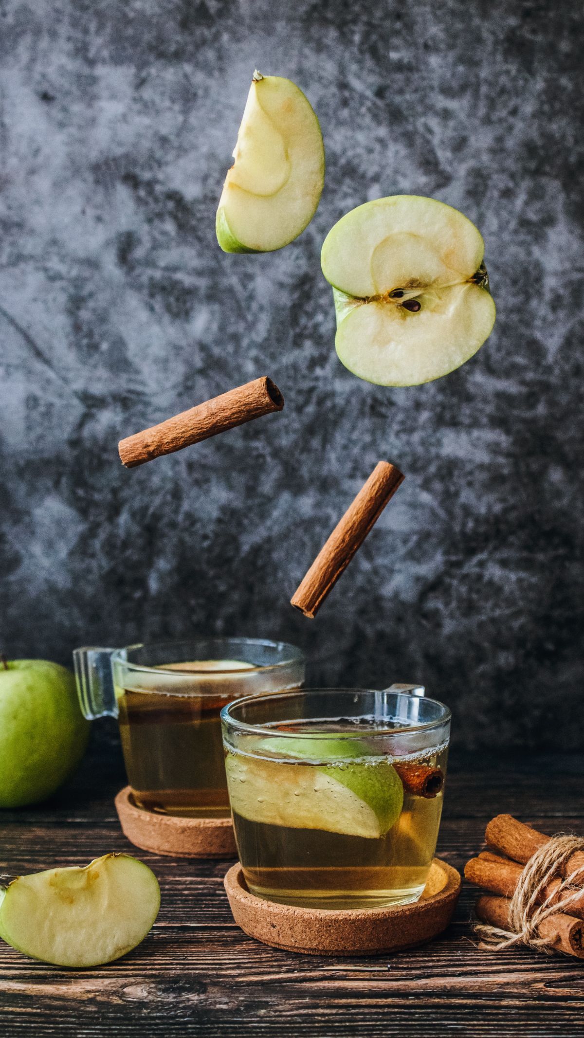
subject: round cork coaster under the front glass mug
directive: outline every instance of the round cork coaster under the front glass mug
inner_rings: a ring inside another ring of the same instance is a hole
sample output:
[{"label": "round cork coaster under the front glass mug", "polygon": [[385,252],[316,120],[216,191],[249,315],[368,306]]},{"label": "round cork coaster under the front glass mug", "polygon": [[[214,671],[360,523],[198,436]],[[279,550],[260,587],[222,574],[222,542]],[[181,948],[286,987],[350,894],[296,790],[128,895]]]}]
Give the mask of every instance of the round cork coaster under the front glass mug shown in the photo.
[{"label": "round cork coaster under the front glass mug", "polygon": [[337,911],[265,901],[249,893],[239,863],[224,883],[233,919],[245,933],[304,955],[374,955],[423,945],[446,929],[461,893],[458,873],[438,857],[420,900],[396,908]]}]

